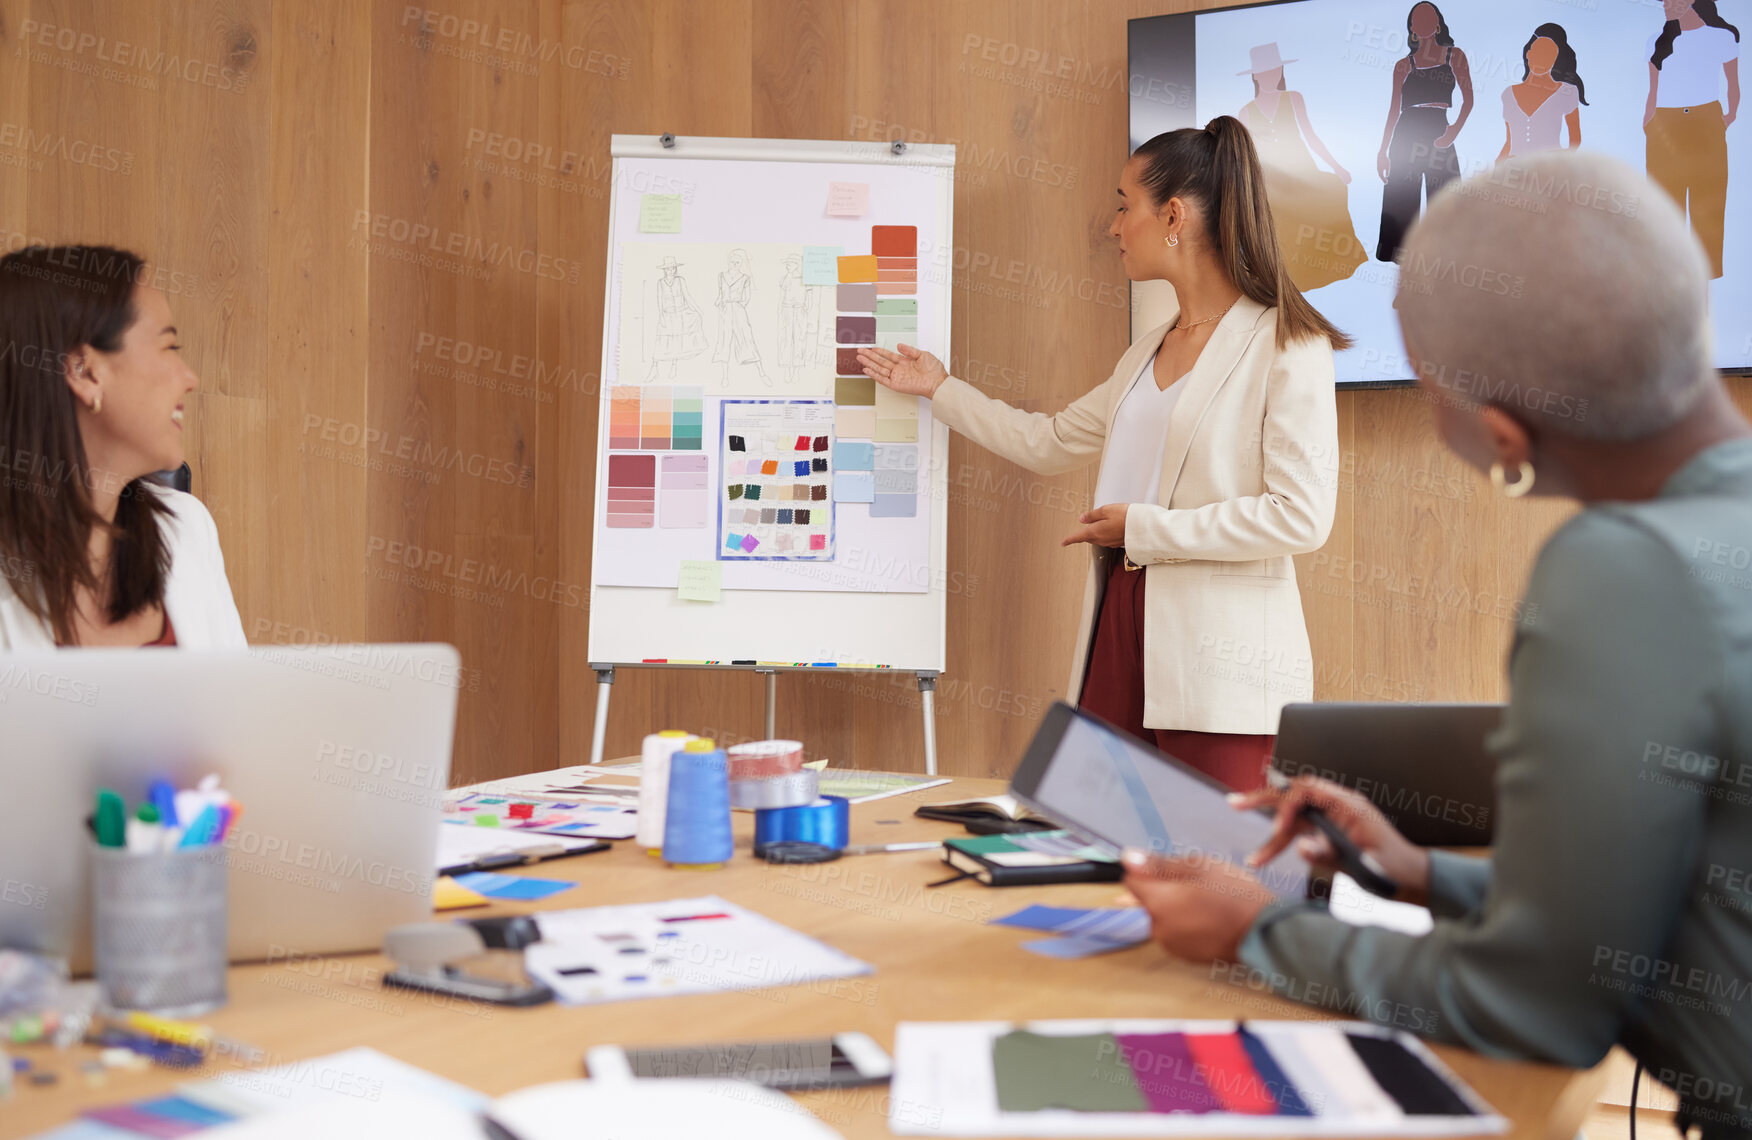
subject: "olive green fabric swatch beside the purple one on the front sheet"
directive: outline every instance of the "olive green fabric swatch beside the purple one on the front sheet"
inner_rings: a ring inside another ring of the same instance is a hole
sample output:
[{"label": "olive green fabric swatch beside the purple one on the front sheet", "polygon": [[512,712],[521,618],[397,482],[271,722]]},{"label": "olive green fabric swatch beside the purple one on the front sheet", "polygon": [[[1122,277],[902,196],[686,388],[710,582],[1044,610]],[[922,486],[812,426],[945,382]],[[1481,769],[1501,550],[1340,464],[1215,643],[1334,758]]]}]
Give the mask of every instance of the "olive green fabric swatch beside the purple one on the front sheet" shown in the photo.
[{"label": "olive green fabric swatch beside the purple one on the front sheet", "polygon": [[1013,1030],[992,1042],[997,1107],[1004,1112],[1148,1112],[1113,1033],[1049,1037]]}]

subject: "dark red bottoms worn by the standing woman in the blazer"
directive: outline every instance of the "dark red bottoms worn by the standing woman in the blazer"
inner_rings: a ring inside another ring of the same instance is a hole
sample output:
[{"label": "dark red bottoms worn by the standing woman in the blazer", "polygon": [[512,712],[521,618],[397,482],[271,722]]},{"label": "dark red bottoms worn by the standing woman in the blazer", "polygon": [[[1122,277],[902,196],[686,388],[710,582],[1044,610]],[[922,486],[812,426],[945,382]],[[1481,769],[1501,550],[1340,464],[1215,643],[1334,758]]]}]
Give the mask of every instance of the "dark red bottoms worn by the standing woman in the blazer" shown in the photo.
[{"label": "dark red bottoms worn by the standing woman in the blazer", "polygon": [[[1114,552],[1077,704],[1237,792],[1265,786],[1277,735],[1144,727],[1144,574]],[[1160,651],[1160,650],[1158,650]]]}]

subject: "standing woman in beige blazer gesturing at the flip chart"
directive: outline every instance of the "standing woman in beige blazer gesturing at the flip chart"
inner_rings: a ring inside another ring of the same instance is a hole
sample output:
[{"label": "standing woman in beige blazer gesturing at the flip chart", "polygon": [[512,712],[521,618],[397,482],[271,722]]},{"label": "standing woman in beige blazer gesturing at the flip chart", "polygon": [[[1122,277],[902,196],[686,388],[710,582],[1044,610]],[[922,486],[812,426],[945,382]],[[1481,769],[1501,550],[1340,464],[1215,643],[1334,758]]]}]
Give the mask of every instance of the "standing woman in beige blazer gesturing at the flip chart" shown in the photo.
[{"label": "standing woman in beige blazer gesturing at the flip chart", "polygon": [[1247,128],[1156,135],[1120,172],[1109,235],[1176,313],[1056,415],[950,376],[929,352],[860,348],[887,387],[1041,475],[1100,461],[1095,510],[1063,545],[1090,569],[1065,690],[1235,788],[1265,779],[1277,713],[1314,662],[1293,555],[1337,503],[1333,348],[1351,340],[1289,280]]}]

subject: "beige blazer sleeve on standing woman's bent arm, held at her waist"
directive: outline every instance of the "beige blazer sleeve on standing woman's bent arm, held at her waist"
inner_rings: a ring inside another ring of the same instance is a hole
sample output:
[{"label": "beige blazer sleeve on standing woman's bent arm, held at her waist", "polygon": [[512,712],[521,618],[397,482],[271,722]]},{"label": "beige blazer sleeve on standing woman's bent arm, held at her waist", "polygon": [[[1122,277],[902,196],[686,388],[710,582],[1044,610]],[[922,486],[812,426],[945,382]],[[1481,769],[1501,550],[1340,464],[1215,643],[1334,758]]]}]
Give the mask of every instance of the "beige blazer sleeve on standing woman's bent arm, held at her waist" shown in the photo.
[{"label": "beige blazer sleeve on standing woman's bent arm, held at her waist", "polygon": [[1261,445],[1265,492],[1191,510],[1134,503],[1125,550],[1137,560],[1247,562],[1319,550],[1339,506],[1339,405],[1332,347],[1293,343],[1267,373]]}]

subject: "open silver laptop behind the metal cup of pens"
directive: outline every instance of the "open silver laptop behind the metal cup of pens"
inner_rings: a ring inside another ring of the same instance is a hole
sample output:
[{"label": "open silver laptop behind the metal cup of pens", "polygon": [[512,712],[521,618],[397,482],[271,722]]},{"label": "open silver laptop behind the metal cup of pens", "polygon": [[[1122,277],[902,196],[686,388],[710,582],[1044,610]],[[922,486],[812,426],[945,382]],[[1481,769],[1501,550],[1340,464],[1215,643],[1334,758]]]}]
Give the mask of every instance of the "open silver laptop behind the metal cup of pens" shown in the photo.
[{"label": "open silver laptop behind the metal cup of pens", "polygon": [[377,949],[431,918],[447,644],[0,655],[0,946],[91,961],[91,814],[217,774],[242,806],[231,960]]}]

